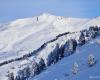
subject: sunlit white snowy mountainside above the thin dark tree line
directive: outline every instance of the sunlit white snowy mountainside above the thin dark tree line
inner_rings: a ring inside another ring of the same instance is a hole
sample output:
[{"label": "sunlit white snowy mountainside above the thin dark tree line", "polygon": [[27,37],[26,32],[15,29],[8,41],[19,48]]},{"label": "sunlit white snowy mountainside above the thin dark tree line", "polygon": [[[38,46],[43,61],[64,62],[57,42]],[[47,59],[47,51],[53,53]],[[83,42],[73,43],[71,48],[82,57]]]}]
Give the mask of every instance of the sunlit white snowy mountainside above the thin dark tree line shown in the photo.
[{"label": "sunlit white snowy mountainside above the thin dark tree line", "polygon": [[86,29],[88,25],[99,26],[100,18],[66,18],[44,13],[33,18],[18,19],[2,24],[0,27],[0,61],[4,57],[10,59],[32,52],[58,34]]}]

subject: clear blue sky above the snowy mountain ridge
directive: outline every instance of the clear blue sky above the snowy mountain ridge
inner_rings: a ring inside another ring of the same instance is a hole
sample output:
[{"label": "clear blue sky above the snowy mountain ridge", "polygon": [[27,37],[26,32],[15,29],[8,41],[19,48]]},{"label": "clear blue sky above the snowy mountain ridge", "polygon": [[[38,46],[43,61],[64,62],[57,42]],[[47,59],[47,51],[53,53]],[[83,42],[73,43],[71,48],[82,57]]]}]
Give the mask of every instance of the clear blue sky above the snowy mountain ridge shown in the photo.
[{"label": "clear blue sky above the snowy mountain ridge", "polygon": [[100,16],[100,0],[0,0],[0,22],[42,13],[68,17]]}]

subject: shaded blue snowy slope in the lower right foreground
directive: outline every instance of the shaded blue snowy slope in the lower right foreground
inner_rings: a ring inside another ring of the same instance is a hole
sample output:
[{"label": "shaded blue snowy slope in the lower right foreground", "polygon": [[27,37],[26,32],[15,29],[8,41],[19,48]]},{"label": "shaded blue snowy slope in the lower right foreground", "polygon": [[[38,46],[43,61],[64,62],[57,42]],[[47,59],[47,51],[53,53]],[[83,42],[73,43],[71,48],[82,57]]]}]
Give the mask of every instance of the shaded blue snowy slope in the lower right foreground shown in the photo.
[{"label": "shaded blue snowy slope in the lower right foreground", "polygon": [[[77,48],[75,54],[63,58],[57,64],[50,66],[40,75],[29,80],[99,80],[100,79],[100,37]],[[88,67],[88,56],[93,54],[97,63]],[[72,74],[73,64],[77,62],[79,72]]]}]

